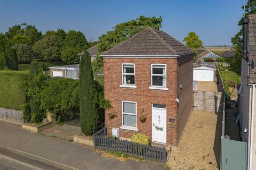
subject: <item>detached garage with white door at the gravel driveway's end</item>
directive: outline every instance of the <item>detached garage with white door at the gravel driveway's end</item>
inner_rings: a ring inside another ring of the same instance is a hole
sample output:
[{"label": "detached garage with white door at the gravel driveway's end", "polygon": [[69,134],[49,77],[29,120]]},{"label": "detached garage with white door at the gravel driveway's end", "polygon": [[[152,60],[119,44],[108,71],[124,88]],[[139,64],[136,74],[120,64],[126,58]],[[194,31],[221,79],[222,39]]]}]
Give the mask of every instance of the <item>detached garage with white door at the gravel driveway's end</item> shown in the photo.
[{"label": "detached garage with white door at the gravel driveway's end", "polygon": [[193,81],[216,81],[216,66],[199,64],[193,66]]}]

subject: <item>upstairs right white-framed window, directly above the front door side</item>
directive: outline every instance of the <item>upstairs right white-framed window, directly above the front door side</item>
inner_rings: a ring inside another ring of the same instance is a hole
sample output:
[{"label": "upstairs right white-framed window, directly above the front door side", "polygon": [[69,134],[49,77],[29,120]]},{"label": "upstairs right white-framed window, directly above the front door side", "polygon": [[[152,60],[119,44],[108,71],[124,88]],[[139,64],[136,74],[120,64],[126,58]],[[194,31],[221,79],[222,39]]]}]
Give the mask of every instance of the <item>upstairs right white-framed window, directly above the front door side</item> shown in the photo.
[{"label": "upstairs right white-framed window, directly above the front door side", "polygon": [[151,64],[151,87],[166,88],[166,64]]}]

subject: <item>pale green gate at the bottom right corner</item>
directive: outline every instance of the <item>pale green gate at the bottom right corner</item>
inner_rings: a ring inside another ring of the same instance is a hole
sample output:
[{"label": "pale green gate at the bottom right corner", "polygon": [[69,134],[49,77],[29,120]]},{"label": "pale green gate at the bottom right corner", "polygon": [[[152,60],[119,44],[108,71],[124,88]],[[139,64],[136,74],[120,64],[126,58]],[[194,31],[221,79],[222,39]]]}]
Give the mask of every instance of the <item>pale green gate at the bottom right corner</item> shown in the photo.
[{"label": "pale green gate at the bottom right corner", "polygon": [[221,170],[246,170],[247,143],[221,137]]}]

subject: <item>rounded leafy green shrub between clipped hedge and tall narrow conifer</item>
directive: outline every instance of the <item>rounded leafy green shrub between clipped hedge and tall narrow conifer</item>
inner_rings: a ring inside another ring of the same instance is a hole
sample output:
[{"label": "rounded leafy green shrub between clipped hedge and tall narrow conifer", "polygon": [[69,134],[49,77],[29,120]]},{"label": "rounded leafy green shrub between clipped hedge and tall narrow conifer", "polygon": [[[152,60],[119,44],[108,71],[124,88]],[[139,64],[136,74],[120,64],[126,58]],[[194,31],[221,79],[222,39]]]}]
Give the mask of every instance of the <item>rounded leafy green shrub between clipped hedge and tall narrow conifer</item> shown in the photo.
[{"label": "rounded leafy green shrub between clipped hedge and tall narrow conifer", "polygon": [[58,123],[70,120],[79,111],[79,82],[65,78],[50,78],[38,94],[39,108],[46,114],[56,114]]}]

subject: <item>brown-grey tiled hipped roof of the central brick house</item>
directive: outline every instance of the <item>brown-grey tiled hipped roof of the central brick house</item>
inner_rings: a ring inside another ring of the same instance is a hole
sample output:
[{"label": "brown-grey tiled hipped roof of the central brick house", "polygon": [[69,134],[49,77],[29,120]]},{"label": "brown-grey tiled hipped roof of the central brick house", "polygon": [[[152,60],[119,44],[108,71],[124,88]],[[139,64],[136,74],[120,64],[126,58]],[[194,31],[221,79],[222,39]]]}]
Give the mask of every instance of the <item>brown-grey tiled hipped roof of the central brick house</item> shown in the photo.
[{"label": "brown-grey tiled hipped roof of the central brick house", "polygon": [[187,53],[194,53],[194,50],[167,33],[148,27],[102,55],[181,55]]}]

